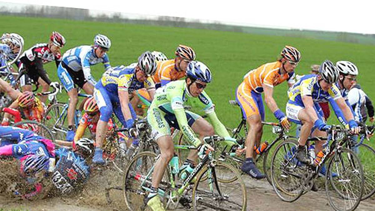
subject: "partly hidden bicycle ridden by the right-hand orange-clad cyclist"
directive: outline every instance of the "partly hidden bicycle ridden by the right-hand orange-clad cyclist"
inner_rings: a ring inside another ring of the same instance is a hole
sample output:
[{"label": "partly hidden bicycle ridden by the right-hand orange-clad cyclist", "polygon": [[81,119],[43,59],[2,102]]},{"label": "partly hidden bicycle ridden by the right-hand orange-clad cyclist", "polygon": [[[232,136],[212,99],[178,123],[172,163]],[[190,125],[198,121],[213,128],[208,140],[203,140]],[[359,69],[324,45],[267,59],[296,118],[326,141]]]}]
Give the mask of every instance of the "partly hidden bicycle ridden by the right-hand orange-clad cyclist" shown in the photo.
[{"label": "partly hidden bicycle ridden by the right-hand orange-clad cyclist", "polygon": [[[239,104],[235,100],[230,100],[229,104],[230,105],[239,106]],[[241,110],[241,112],[242,112],[242,110]],[[260,154],[258,154],[257,158],[255,159],[255,162],[258,163],[263,158],[263,172],[266,175],[267,181],[272,185],[271,178],[270,178],[271,161],[270,161],[270,159],[268,159],[268,156],[269,156],[270,152],[272,153],[271,149],[273,148],[274,145],[276,145],[280,141],[285,142],[287,140],[297,140],[297,138],[294,137],[294,136],[289,136],[287,134],[287,131],[285,131],[284,128],[281,127],[281,125],[279,123],[276,123],[276,122],[262,122],[262,125],[270,125],[270,126],[272,126],[272,133],[278,135],[275,138],[275,140],[273,140],[272,142],[270,142],[267,145],[267,147],[265,149],[263,149],[263,151],[261,151]],[[242,134],[241,134],[242,128],[243,128],[243,132],[244,132],[245,137],[243,137]],[[220,161],[227,161],[230,164],[232,164],[233,166],[236,166],[237,169],[240,169],[241,166],[242,166],[242,164],[243,164],[243,162],[245,161],[245,157],[243,157],[243,156],[240,156],[240,157],[237,156],[236,153],[235,153],[235,151],[239,147],[243,148],[243,145],[245,143],[246,134],[248,134],[248,128],[246,126],[246,119],[243,118],[243,115],[242,115],[242,119],[241,119],[240,124],[236,128],[234,128],[233,130],[231,130],[231,129],[227,129],[227,130],[230,131],[231,137],[237,140],[237,143],[235,143],[230,148],[228,148],[225,145],[225,143],[223,143],[223,144],[221,144],[221,143],[215,143],[215,147],[214,147],[214,149],[216,151],[215,152],[215,157],[217,159],[219,159]],[[181,145],[183,142],[184,142],[183,135],[181,134],[181,136],[180,136],[180,138],[178,140],[178,143]],[[257,152],[254,150],[254,153],[257,153]],[[182,157],[181,151],[178,151],[178,156],[180,158]],[[240,172],[242,172],[242,171],[240,171]],[[233,181],[233,179],[229,179],[226,182],[231,182],[231,181]],[[223,182],[225,182],[225,181],[223,181]]]}]

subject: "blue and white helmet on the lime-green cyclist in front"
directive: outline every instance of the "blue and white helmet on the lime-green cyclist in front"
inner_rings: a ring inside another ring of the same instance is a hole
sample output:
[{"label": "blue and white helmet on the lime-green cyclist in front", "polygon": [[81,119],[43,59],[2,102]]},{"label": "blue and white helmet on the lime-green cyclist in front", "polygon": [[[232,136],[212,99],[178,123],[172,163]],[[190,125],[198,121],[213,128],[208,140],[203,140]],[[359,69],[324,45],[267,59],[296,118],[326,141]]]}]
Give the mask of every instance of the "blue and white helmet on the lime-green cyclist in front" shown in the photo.
[{"label": "blue and white helmet on the lime-green cyclist in front", "polygon": [[186,75],[194,80],[199,80],[205,83],[211,82],[211,71],[208,67],[199,61],[191,61],[187,65]]}]

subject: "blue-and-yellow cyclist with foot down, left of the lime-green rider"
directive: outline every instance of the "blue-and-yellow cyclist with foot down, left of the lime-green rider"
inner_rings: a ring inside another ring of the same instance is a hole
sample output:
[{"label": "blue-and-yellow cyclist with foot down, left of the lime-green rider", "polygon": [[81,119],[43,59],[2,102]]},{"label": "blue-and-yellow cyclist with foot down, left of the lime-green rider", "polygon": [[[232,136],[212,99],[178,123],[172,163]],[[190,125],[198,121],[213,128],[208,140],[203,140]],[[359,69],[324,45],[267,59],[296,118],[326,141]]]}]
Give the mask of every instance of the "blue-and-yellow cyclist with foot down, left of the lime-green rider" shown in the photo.
[{"label": "blue-and-yellow cyclist with foot down, left of the lime-green rider", "polygon": [[[96,148],[94,163],[103,164],[103,139],[107,134],[107,124],[115,113],[124,127],[130,128],[134,124],[136,114],[129,102],[130,94],[137,89],[146,88],[151,99],[154,97],[155,84],[151,75],[155,74],[156,62],[150,51],[146,51],[138,58],[138,63],[130,66],[117,66],[106,71],[94,90],[95,100],[100,110],[97,125]],[[137,140],[133,140],[137,144]]]}]

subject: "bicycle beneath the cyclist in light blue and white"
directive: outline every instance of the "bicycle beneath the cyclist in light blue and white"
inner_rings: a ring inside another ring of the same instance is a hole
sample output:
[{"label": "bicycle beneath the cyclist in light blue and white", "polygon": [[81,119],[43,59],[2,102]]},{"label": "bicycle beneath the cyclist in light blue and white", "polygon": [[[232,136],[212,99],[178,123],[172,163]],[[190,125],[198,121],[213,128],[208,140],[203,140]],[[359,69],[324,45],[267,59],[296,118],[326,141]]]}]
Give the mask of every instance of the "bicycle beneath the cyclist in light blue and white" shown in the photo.
[{"label": "bicycle beneath the cyclist in light blue and white", "polygon": [[[91,95],[78,93],[78,96],[89,98]],[[85,101],[81,102],[80,108],[83,107],[84,102]],[[48,109],[43,116],[43,124],[51,129],[51,131],[55,134],[56,139],[65,140],[66,133],[68,133],[67,116],[69,102],[59,102],[57,101],[56,96],[54,96],[52,99],[50,99],[47,107]],[[76,109],[74,114],[75,128],[78,127],[81,116],[81,110]]]}]

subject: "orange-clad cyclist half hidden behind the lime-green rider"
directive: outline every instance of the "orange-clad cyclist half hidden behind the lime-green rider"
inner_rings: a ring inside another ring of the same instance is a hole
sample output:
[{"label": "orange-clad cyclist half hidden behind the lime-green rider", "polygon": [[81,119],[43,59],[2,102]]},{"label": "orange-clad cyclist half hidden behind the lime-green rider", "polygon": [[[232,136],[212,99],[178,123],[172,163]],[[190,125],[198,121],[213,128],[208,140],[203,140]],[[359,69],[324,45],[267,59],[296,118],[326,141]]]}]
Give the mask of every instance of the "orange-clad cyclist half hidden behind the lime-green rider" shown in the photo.
[{"label": "orange-clad cyclist half hidden behind the lime-green rider", "polygon": [[187,64],[195,60],[195,52],[186,45],[178,45],[174,59],[157,62],[156,73],[152,77],[156,88],[185,77]]}]

